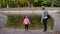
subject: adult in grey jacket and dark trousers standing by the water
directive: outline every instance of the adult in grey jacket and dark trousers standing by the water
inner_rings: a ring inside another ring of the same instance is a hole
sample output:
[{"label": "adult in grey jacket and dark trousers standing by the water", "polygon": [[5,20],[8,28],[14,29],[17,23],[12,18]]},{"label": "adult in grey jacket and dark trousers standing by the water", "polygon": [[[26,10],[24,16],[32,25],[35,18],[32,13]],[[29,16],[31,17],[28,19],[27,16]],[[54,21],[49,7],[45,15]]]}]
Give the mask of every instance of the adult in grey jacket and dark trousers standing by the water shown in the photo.
[{"label": "adult in grey jacket and dark trousers standing by the water", "polygon": [[45,32],[45,31],[47,31],[47,18],[48,18],[48,12],[47,12],[47,10],[45,9],[45,7],[43,6],[42,7],[42,19],[41,19],[41,22],[43,22],[43,24],[44,24],[44,31],[43,32]]}]

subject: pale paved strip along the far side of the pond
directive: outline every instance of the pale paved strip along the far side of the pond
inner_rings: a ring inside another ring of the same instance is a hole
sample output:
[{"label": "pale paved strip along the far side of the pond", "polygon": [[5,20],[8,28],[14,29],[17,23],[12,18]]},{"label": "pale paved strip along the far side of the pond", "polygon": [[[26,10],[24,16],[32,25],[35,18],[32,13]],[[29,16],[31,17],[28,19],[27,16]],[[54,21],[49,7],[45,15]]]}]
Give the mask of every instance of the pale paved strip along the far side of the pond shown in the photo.
[{"label": "pale paved strip along the far side of the pond", "polygon": [[[48,12],[57,12],[58,10],[48,10]],[[41,14],[41,10],[25,10],[25,11],[0,11],[1,14],[9,14],[9,15],[14,15],[14,14]]]}]

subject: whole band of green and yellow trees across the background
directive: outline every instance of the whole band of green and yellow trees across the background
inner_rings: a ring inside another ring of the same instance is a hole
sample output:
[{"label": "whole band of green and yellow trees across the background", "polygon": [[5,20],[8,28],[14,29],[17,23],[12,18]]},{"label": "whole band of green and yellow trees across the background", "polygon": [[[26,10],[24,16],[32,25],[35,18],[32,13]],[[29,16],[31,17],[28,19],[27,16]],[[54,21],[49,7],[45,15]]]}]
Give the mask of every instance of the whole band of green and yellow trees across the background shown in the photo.
[{"label": "whole band of green and yellow trees across the background", "polygon": [[9,8],[9,7],[41,7],[41,6],[47,6],[47,7],[57,7],[58,3],[60,5],[60,2],[58,0],[0,0],[0,7],[3,8]]}]

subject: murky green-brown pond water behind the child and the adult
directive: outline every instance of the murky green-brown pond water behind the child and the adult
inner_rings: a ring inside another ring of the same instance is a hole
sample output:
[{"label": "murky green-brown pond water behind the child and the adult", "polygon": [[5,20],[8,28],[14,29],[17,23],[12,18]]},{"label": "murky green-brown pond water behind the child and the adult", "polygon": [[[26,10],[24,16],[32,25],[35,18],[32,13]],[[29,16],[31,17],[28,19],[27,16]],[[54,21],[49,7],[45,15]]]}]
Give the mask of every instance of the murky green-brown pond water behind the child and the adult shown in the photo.
[{"label": "murky green-brown pond water behind the child and the adult", "polygon": [[[7,15],[8,21],[6,24],[6,28],[17,28],[24,29],[23,20],[25,15]],[[29,25],[29,29],[31,30],[41,30],[43,29],[43,23],[41,23],[41,15],[28,15],[31,24]],[[51,29],[52,18],[48,19],[48,28]]]}]

